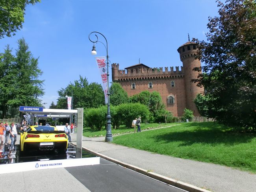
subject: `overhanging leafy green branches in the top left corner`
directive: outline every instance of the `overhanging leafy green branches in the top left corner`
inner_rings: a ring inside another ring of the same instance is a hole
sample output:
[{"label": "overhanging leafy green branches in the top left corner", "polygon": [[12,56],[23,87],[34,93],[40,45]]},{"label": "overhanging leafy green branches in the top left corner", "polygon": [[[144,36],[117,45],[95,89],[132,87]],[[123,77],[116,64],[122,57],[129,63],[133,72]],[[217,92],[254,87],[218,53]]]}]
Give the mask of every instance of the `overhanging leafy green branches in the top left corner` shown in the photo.
[{"label": "overhanging leafy green branches in the top left corner", "polygon": [[0,0],[0,39],[15,35],[22,28],[26,6],[37,2],[40,0]]}]

